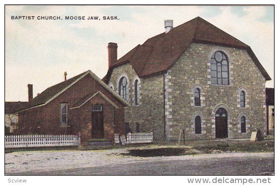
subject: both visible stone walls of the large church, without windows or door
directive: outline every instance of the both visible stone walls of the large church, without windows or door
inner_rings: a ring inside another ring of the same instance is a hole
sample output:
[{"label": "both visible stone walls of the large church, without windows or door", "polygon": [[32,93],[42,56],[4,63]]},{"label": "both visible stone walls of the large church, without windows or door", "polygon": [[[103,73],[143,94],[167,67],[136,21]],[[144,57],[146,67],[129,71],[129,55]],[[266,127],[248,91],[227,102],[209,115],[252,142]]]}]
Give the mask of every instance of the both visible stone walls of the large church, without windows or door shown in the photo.
[{"label": "both visible stone walls of the large church, without windows or door", "polygon": [[[229,60],[230,85],[211,84],[210,57],[221,50]],[[251,131],[265,128],[265,78],[246,50],[213,44],[190,44],[184,54],[165,73],[137,78],[126,63],[113,69],[110,86],[118,92],[119,76],[128,76],[129,103],[125,122],[135,132],[154,132],[154,140],[178,140],[180,129],[186,139],[215,138],[215,112],[228,112],[228,137],[249,138]],[[134,105],[134,79],[140,82],[140,105]],[[194,89],[201,90],[201,106],[194,106]],[[239,105],[239,92],[245,92],[244,108]],[[195,134],[195,117],[201,117],[201,134]],[[240,118],[246,118],[246,133],[240,131]]]}]

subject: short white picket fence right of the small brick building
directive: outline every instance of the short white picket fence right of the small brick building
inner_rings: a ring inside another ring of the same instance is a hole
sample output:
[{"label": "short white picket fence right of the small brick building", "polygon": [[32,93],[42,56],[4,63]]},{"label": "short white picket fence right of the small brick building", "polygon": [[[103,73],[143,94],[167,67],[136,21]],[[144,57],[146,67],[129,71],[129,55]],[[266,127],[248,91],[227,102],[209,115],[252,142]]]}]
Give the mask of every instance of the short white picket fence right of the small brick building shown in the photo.
[{"label": "short white picket fence right of the small brick building", "polygon": [[[153,132],[128,133],[126,138],[124,135],[121,135],[120,139],[122,145],[134,143],[152,143]],[[120,143],[119,134],[114,134],[114,143]]]}]

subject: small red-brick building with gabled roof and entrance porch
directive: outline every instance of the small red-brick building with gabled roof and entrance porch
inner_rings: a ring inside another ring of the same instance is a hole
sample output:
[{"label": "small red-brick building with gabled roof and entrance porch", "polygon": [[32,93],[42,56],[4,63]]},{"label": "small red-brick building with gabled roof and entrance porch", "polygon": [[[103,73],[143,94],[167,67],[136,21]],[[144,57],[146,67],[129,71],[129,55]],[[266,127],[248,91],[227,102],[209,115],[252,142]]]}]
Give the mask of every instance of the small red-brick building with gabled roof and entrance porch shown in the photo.
[{"label": "small red-brick building with gabled roof and entrance porch", "polygon": [[18,111],[19,134],[78,134],[82,145],[93,139],[113,141],[124,134],[124,107],[128,106],[91,71],[53,85]]}]

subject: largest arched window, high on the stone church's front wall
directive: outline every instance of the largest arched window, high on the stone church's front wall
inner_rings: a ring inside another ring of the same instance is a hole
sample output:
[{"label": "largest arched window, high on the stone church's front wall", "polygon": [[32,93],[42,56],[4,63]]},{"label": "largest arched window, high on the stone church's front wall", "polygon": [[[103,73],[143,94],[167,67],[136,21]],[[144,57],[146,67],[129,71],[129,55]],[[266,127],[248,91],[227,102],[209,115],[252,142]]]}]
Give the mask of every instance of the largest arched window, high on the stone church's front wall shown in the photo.
[{"label": "largest arched window, high on the stone church's front wall", "polygon": [[216,51],[210,59],[211,84],[229,85],[229,60],[222,51]]}]

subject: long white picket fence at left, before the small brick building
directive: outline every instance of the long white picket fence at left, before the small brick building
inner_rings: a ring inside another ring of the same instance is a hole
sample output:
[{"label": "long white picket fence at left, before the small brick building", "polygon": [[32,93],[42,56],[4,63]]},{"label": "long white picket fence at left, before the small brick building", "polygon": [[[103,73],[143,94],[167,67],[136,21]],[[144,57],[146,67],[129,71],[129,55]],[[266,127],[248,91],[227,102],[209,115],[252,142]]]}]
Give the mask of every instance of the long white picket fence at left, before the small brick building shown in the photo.
[{"label": "long white picket fence at left, before the small brick building", "polygon": [[80,146],[80,135],[5,136],[5,148]]}]

